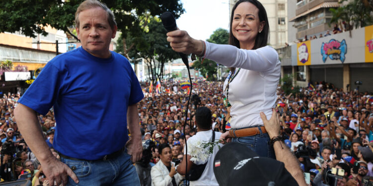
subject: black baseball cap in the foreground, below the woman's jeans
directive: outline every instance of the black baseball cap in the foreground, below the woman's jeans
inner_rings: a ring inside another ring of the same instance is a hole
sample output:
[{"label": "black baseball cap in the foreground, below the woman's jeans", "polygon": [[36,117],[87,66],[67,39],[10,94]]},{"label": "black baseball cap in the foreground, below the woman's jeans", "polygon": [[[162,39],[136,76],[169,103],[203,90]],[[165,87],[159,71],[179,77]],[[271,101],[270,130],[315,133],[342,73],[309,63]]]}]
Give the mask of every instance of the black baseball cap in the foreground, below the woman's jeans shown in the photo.
[{"label": "black baseball cap in the foreground, below the woman's jeans", "polygon": [[240,143],[224,145],[214,158],[219,186],[297,186],[282,162],[259,155]]}]

